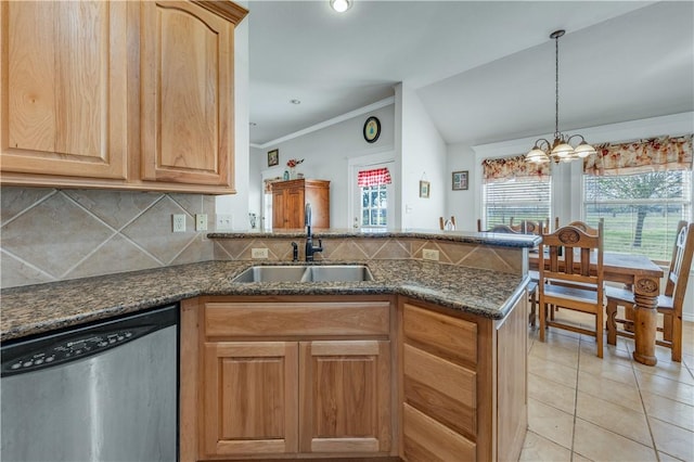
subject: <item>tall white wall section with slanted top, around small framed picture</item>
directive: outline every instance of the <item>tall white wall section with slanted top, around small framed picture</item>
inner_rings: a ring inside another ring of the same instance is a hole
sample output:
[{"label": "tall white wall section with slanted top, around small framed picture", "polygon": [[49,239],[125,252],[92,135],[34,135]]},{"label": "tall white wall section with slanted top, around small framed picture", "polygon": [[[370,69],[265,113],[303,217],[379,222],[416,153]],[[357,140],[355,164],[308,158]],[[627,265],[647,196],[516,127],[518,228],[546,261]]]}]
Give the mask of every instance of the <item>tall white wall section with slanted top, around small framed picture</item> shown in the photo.
[{"label": "tall white wall section with slanted top, around small framed picture", "polygon": [[[407,84],[396,86],[397,132],[400,133],[401,210],[403,229],[438,229],[445,216],[450,182],[447,147],[420,97]],[[420,180],[429,182],[429,197],[420,197]]]}]

